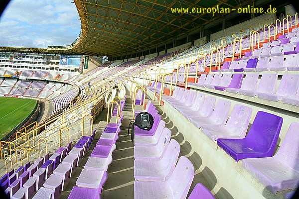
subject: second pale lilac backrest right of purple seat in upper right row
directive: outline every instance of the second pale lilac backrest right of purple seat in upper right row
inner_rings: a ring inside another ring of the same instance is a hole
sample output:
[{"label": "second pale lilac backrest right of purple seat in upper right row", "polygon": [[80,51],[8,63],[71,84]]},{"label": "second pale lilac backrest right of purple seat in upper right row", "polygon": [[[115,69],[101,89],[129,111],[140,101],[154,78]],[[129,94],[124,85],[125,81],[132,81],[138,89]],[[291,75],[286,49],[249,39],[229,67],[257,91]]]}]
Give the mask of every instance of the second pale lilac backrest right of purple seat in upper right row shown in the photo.
[{"label": "second pale lilac backrest right of purple seat in upper right row", "polygon": [[278,74],[263,74],[257,92],[274,94]]}]

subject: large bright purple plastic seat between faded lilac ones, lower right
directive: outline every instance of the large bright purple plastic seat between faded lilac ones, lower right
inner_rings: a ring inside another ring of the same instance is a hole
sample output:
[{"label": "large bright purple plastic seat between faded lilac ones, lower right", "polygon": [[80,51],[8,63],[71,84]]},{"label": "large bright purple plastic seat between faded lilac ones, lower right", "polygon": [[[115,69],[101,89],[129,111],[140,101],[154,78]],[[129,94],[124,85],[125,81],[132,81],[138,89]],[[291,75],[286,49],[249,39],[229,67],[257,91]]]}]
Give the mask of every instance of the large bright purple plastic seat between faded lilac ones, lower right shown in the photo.
[{"label": "large bright purple plastic seat between faded lilac ones, lower right", "polygon": [[217,139],[217,144],[237,162],[246,158],[271,157],[282,123],[282,117],[258,111],[245,138]]}]

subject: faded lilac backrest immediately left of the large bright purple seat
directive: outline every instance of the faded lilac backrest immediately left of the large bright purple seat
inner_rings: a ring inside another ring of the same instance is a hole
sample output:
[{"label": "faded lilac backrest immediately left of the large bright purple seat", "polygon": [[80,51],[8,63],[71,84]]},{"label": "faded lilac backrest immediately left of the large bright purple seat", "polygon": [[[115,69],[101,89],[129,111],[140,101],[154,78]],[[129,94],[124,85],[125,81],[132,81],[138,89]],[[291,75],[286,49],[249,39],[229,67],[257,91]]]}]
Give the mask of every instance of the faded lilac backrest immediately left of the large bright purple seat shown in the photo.
[{"label": "faded lilac backrest immediately left of the large bright purple seat", "polygon": [[251,114],[251,107],[235,104],[231,115],[225,124],[225,127],[233,132],[240,132],[239,135],[244,135],[245,137]]}]

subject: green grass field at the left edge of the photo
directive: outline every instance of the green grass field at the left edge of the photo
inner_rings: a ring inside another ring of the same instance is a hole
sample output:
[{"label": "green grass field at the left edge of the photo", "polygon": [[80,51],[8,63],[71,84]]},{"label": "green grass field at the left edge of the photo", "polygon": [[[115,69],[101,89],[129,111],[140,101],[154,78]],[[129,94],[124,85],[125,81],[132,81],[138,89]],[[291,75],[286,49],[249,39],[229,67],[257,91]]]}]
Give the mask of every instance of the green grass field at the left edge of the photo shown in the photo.
[{"label": "green grass field at the left edge of the photo", "polygon": [[31,113],[36,102],[30,99],[0,98],[0,139]]}]

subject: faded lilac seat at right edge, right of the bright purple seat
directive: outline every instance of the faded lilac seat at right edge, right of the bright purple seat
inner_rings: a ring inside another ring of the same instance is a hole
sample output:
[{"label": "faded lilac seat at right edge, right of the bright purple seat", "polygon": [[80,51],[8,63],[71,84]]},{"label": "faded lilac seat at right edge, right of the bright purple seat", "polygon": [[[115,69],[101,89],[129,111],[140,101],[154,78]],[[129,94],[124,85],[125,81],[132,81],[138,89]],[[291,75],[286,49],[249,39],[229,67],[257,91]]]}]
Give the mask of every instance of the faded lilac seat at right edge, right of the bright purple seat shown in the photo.
[{"label": "faded lilac seat at right edge, right of the bright purple seat", "polygon": [[299,185],[299,123],[293,122],[273,157],[243,160],[242,164],[258,181],[276,194]]}]

